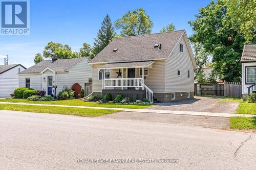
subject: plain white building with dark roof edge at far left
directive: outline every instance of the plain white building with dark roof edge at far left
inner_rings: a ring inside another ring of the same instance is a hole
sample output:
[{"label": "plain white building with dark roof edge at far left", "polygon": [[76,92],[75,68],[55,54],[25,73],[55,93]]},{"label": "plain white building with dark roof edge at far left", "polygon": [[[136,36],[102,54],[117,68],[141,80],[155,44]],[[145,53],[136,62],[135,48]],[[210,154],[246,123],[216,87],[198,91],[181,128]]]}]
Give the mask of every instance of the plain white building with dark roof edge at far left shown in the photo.
[{"label": "plain white building with dark roof edge at far left", "polygon": [[0,65],[0,98],[10,97],[18,87],[18,73],[25,69],[22,64]]}]

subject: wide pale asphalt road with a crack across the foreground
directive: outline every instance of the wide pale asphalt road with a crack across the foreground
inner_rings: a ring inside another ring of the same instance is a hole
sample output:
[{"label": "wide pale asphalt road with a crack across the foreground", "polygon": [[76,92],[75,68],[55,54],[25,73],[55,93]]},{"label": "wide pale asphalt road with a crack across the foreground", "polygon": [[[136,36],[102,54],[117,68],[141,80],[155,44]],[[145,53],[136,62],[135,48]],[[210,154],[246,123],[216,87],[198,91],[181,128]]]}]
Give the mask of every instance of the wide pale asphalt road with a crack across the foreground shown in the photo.
[{"label": "wide pale asphalt road with a crack across the foreground", "polygon": [[[255,146],[243,132],[0,110],[0,169],[255,169]],[[97,158],[125,163],[77,163]]]}]

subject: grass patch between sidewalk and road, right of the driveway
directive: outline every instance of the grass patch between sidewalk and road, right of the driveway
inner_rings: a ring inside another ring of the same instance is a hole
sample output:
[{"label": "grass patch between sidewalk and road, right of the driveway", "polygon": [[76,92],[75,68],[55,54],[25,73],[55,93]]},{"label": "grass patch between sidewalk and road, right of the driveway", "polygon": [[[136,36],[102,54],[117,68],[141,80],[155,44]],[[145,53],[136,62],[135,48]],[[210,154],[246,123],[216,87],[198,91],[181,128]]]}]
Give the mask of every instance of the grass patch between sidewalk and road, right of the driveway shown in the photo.
[{"label": "grass patch between sidewalk and road, right of the driveway", "polygon": [[231,117],[230,129],[256,129],[256,117]]}]

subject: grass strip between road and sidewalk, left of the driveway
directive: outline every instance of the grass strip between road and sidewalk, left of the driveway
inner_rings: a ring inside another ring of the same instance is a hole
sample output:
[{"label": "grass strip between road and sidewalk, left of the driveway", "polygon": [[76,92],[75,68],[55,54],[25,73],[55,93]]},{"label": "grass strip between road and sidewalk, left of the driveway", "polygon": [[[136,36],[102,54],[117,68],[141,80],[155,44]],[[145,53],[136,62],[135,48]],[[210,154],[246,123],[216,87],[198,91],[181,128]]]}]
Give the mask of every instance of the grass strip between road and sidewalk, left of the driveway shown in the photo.
[{"label": "grass strip between road and sidewalk, left of the driveway", "polygon": [[0,110],[67,114],[67,115],[87,116],[87,117],[95,117],[95,116],[101,116],[104,114],[111,114],[111,113],[118,112],[118,110],[83,109],[83,108],[68,108],[68,107],[54,107],[54,106],[31,106],[31,105],[17,105],[17,104],[0,104]]}]

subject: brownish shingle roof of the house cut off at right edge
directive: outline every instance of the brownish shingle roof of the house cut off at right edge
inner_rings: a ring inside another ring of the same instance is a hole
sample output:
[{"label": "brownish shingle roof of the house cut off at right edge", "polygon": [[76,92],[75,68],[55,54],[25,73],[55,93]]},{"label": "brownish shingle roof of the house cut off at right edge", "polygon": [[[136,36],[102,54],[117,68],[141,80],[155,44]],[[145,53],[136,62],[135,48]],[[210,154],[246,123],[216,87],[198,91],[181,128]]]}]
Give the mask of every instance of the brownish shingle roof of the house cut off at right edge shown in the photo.
[{"label": "brownish shingle roof of the house cut off at right edge", "polygon": [[241,63],[256,62],[256,44],[244,45]]}]

